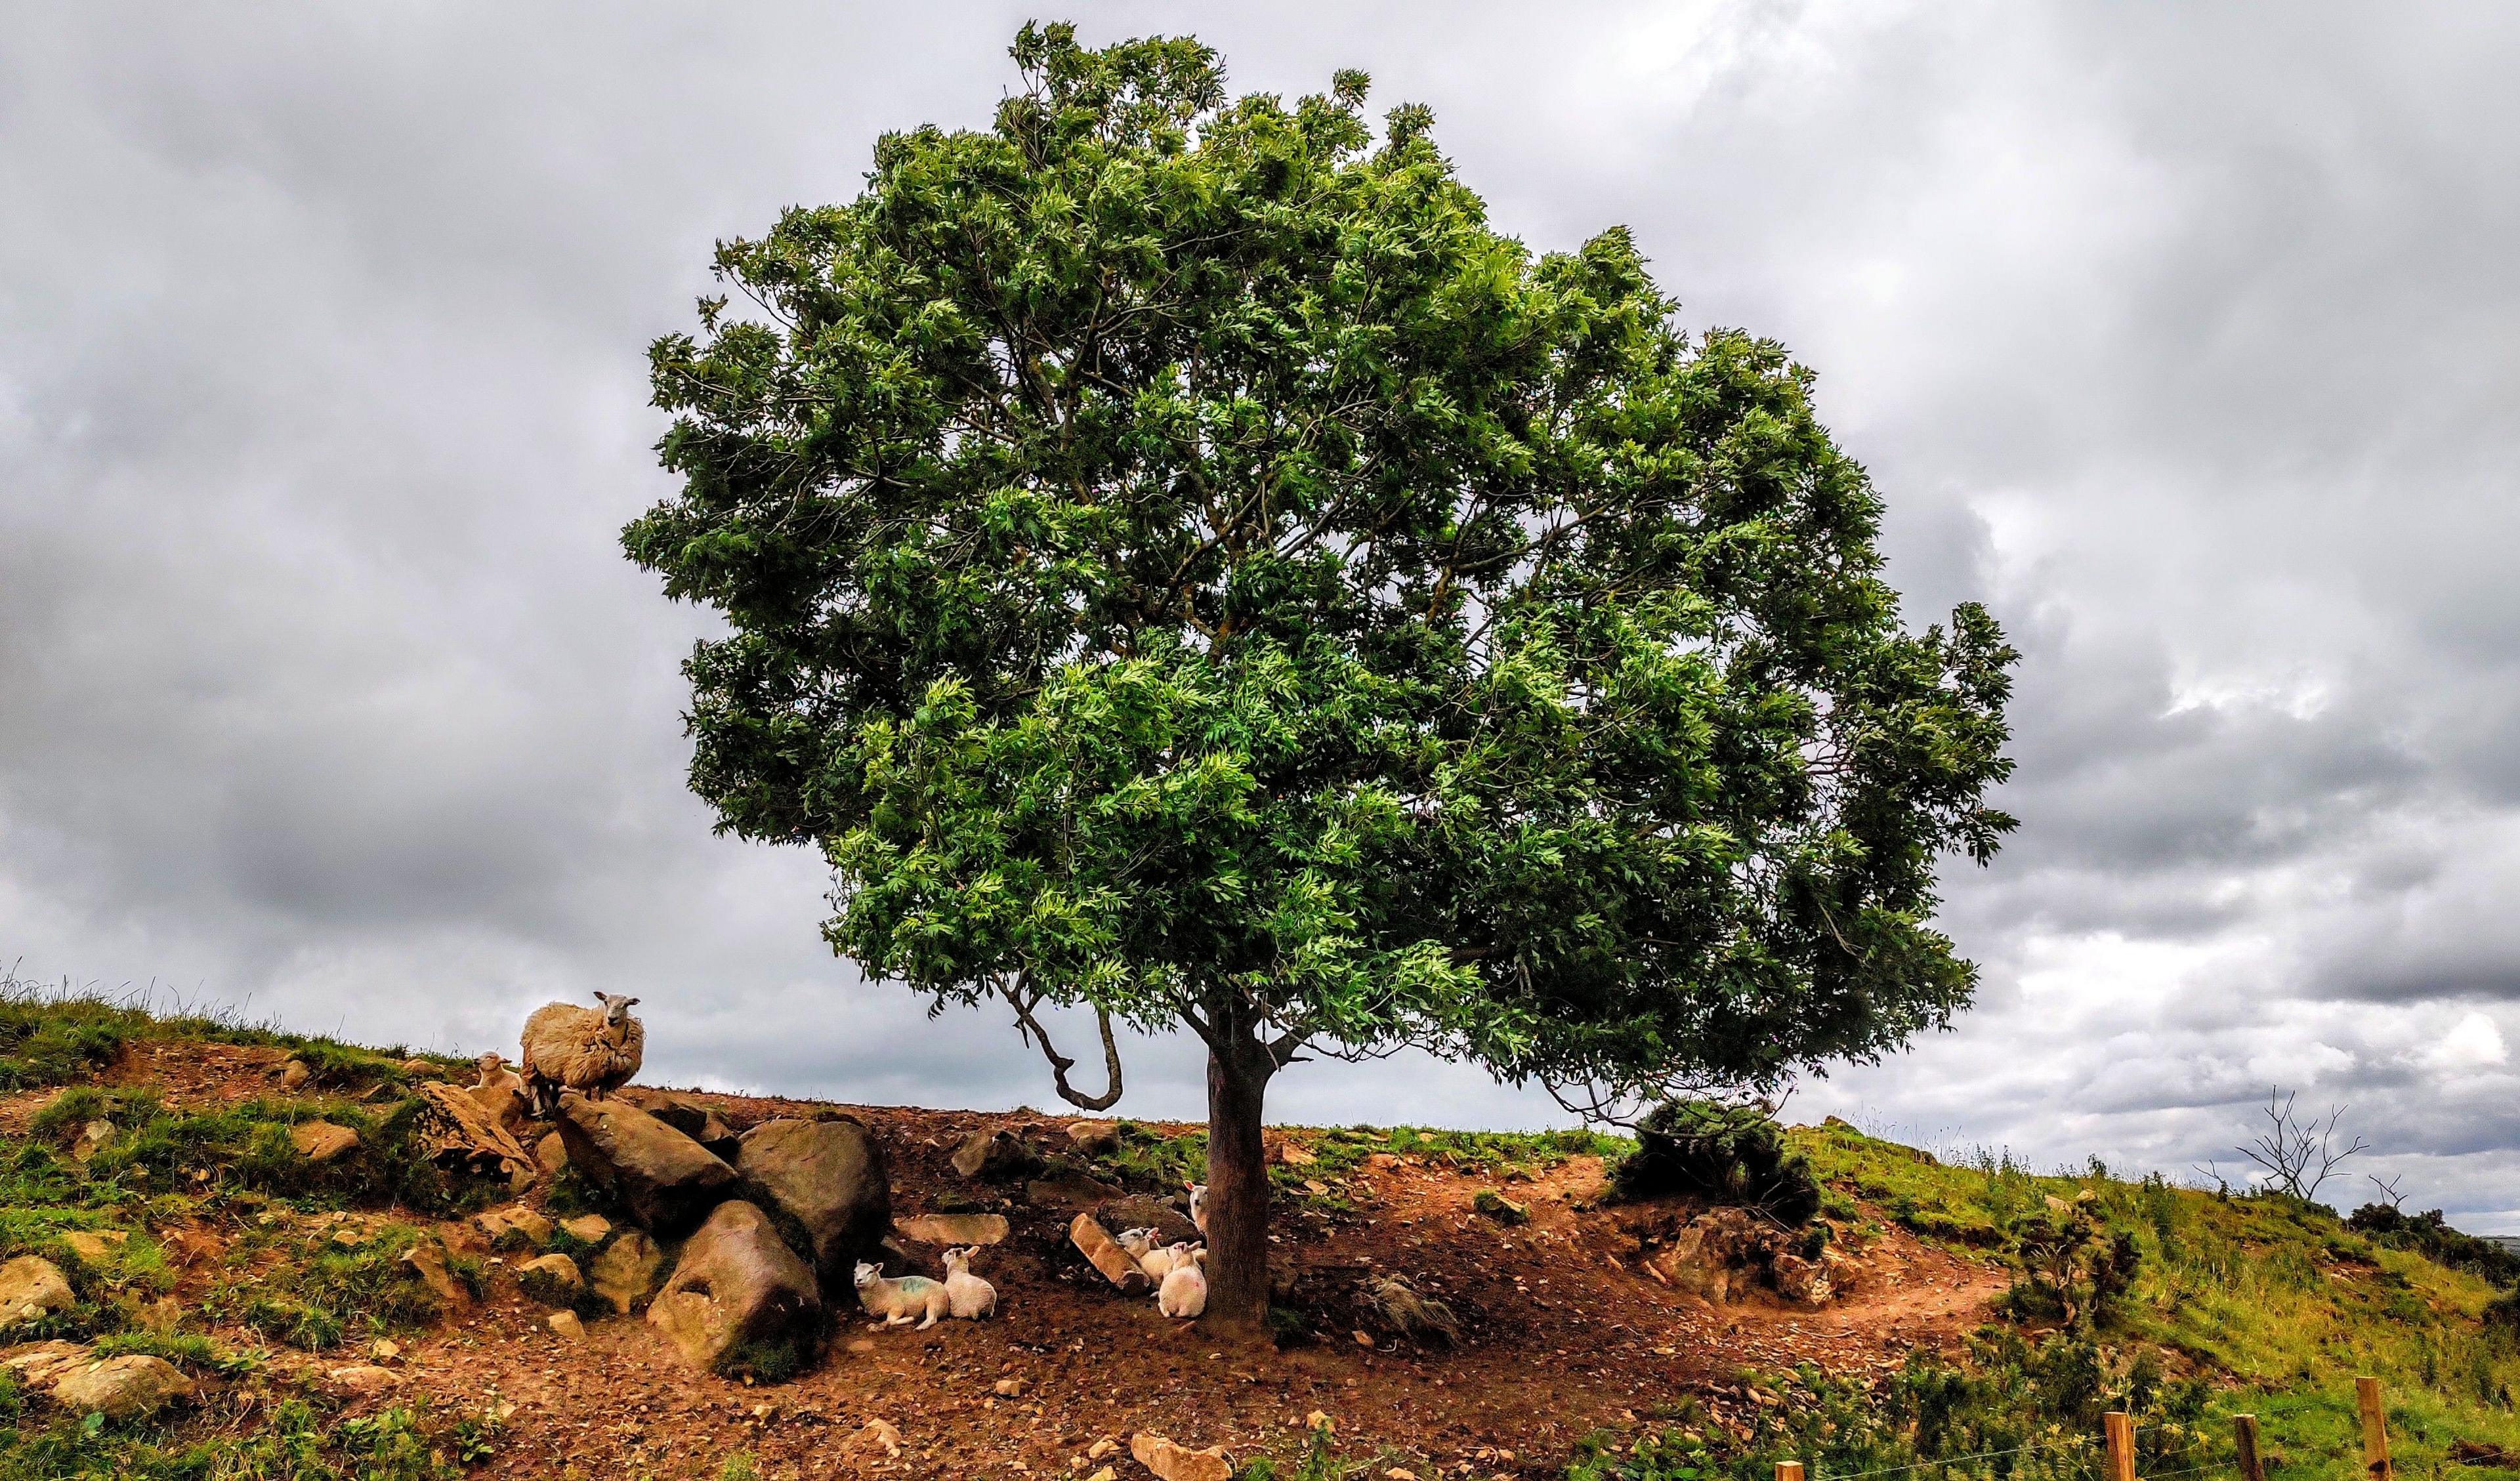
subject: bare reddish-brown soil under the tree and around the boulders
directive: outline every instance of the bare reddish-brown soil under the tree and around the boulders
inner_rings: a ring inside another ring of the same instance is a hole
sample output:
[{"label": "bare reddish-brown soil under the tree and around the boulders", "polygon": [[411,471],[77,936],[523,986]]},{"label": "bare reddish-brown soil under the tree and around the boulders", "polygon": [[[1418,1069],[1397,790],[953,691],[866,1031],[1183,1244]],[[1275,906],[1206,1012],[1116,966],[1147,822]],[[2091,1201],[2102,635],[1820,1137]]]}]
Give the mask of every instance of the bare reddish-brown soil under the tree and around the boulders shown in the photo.
[{"label": "bare reddish-brown soil under the tree and around the boulders", "polygon": [[[224,1103],[277,1093],[277,1058],[149,1043],[134,1045],[108,1081],[154,1086],[171,1106]],[[23,1133],[43,1098],[0,1101],[0,1131]],[[696,1098],[736,1128],[819,1108]],[[748,1451],[764,1478],[1086,1476],[1104,1463],[1129,1478],[1147,1473],[1126,1453],[1137,1431],[1222,1443],[1237,1463],[1288,1458],[1303,1451],[1315,1410],[1336,1423],[1343,1458],[1376,1461],[1373,1476],[1557,1476],[1580,1436],[1633,1433],[1691,1398],[1701,1405],[1696,1423],[1736,1426],[1769,1400],[1741,1388],[1744,1368],[1812,1363],[1862,1378],[1898,1368],[1915,1348],[1956,1348],[2006,1280],[1988,1262],[1893,1227],[1862,1249],[1852,1290],[1824,1305],[1797,1307],[1767,1292],[1709,1305],[1641,1269],[1638,1209],[1590,1206],[1600,1194],[1595,1159],[1497,1184],[1494,1174],[1376,1156],[1348,1176],[1356,1214],[1280,1219],[1280,1249],[1300,1272],[1295,1300],[1315,1335],[1285,1350],[1230,1345],[1091,1277],[1066,1249],[1071,1209],[1028,1209],[1021,1189],[978,1189],[948,1161],[973,1128],[1051,1138],[1063,1118],[847,1111],[892,1154],[897,1217],[973,1196],[1008,1211],[1013,1237],[975,1262],[998,1285],[995,1320],[869,1332],[852,1302],[819,1370],[756,1388],[688,1370],[638,1317],[590,1320],[585,1340],[567,1342],[544,1325],[544,1307],[517,1292],[509,1264],[491,1264],[486,1297],[403,1342],[388,1363],[391,1388],[353,1400],[353,1410],[418,1395],[438,1418],[514,1405],[481,1476],[713,1478],[728,1456]],[[1504,1229],[1477,1214],[1474,1194],[1492,1186],[1527,1204],[1530,1224]],[[489,1257],[469,1224],[441,1232],[451,1247]],[[159,1237],[184,1280],[176,1295],[189,1302],[217,1272],[219,1229]],[[1401,1274],[1446,1300],[1464,1317],[1464,1342],[1419,1350],[1383,1335],[1363,1348],[1348,1302],[1368,1272]],[[249,1332],[222,1337],[265,1345]],[[302,1363],[323,1373],[360,1360],[328,1353]],[[275,1368],[290,1363],[300,1360],[275,1355]],[[1016,1393],[1000,1393],[1000,1380],[1013,1380]],[[867,1433],[869,1421],[900,1431],[897,1456]],[[1106,1438],[1119,1451],[1089,1461]]]}]

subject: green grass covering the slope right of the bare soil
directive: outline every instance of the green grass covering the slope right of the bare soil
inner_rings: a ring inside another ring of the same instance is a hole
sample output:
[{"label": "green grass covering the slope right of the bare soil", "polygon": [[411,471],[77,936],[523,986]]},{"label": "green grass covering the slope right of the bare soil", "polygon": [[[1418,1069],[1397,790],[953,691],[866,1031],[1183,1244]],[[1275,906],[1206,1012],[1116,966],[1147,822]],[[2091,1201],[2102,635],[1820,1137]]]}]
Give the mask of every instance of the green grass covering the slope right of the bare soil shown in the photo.
[{"label": "green grass covering the slope right of the bare soil", "polygon": [[1779,1458],[1852,1476],[1991,1451],[2019,1453],[1933,1471],[2097,1481],[2107,1408],[2145,1426],[2137,1471],[2147,1476],[2225,1466],[2230,1416],[2255,1413],[2283,1481],[2351,1481],[2361,1473],[2356,1375],[2384,1385],[2402,1473],[2442,1473],[2452,1441],[2520,1451],[2520,1345],[2480,1320],[2497,1287],[2374,1244],[2321,1204],[2127,1181],[2099,1164],[2041,1176],[1986,1154],[1948,1166],[1845,1123],[1797,1131],[1794,1146],[1827,1189],[1824,1214],[1855,1234],[1877,1211],[2001,1264],[2019,1264],[2051,1224],[2046,1199],[2089,1194],[2102,1227],[2134,1244],[2134,1280],[2071,1330],[2041,1332],[2054,1317],[1988,1327],[1966,1363],[1918,1358],[1872,1388],[1761,1375],[1779,1403],[1749,1410],[1749,1428],[1683,1400],[1643,1441],[1588,1446],[1572,1481],[1767,1481]]}]

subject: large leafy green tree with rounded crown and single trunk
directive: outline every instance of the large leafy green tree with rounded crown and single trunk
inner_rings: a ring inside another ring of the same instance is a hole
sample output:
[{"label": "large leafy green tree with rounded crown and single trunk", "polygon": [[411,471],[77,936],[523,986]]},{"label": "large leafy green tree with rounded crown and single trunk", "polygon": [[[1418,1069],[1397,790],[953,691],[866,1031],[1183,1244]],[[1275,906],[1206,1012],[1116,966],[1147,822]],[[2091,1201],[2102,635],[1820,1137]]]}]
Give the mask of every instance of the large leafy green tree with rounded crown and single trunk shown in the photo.
[{"label": "large leafy green tree with rounded crown and single trunk", "polygon": [[1900,625],[1809,375],[1683,332],[1620,229],[1494,232],[1358,73],[1013,55],[993,128],[887,133],[653,348],[683,489],[622,539],[726,617],[690,783],[824,851],[832,947],[1008,1002],[1079,1106],[1114,1018],[1197,1033],[1237,1325],[1300,1055],[1618,1098],[1948,1023],[2016,655]]}]

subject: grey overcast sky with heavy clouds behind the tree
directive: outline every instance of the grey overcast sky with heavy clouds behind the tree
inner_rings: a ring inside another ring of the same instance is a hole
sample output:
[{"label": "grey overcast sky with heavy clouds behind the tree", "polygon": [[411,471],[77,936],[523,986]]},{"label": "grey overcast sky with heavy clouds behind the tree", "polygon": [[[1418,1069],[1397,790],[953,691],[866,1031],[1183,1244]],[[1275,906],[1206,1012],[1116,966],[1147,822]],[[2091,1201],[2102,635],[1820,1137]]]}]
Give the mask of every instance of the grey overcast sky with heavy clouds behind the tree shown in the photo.
[{"label": "grey overcast sky with heavy clouds behind the tree", "polygon": [[[711,242],[983,123],[1023,18],[13,5],[0,965],[441,1048],[622,987],[650,1078],[1046,1101],[824,955],[811,856],[708,834],[701,617],[615,549]],[[1918,617],[2011,627],[2026,824],[1948,871],[1981,1005],[1797,1116],[2230,1171],[2281,1083],[2520,1229],[2520,10],[1076,18],[1245,91],[1366,68],[1535,247],[1633,224],[1822,375]],[[1197,1103],[1139,1045],[1124,1108]],[[1557,1118],[1436,1065],[1275,1111]]]}]

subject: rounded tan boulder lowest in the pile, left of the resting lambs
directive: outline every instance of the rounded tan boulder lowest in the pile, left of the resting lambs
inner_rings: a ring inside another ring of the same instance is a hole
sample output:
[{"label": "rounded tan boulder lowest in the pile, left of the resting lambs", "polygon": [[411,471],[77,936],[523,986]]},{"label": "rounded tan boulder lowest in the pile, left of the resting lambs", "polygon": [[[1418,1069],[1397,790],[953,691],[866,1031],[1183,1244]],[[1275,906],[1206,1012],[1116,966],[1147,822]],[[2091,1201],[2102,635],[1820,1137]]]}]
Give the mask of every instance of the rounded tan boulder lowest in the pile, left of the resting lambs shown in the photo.
[{"label": "rounded tan boulder lowest in the pile, left of the resting lambs", "polygon": [[683,1244],[665,1290],[648,1302],[648,1322],[693,1368],[786,1378],[822,1337],[822,1295],[771,1217],[736,1199]]}]

